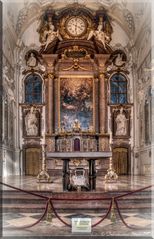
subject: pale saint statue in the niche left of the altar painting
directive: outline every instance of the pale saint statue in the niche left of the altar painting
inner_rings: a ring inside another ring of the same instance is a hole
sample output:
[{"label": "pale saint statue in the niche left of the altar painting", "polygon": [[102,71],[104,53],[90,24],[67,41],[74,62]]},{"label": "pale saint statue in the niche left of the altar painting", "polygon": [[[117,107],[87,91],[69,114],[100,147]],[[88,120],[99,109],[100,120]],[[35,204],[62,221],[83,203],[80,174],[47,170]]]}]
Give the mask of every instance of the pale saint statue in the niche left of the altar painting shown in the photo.
[{"label": "pale saint statue in the niche left of the altar painting", "polygon": [[36,110],[34,110],[34,107],[31,107],[30,111],[25,116],[25,126],[28,136],[38,135],[38,118],[36,117]]}]

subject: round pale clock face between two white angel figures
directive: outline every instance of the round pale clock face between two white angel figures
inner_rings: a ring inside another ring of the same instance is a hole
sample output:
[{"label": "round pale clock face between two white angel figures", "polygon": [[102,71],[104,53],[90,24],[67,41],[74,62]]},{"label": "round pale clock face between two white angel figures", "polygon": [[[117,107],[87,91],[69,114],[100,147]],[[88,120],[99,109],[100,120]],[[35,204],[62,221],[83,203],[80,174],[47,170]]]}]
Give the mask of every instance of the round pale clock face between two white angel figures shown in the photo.
[{"label": "round pale clock face between two white angel figures", "polygon": [[66,30],[71,36],[81,36],[86,31],[86,22],[81,17],[71,17],[66,21]]}]

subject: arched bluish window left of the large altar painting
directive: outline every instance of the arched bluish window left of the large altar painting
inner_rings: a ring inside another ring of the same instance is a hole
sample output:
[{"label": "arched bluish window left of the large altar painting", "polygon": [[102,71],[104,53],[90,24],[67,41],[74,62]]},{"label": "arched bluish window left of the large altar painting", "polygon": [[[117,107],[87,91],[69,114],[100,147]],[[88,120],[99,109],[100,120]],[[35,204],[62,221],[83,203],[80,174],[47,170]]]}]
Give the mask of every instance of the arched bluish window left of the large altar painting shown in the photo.
[{"label": "arched bluish window left of the large altar painting", "polygon": [[32,74],[25,79],[25,102],[42,102],[42,80],[39,75]]}]

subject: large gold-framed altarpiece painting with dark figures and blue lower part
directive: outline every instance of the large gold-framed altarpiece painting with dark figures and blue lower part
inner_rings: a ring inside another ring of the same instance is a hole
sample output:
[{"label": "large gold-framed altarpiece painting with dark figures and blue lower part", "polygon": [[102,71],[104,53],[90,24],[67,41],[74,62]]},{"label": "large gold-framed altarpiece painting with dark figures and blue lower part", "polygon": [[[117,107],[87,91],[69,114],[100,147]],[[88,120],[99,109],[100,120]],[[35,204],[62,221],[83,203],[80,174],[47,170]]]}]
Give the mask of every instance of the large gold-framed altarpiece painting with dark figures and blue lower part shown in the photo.
[{"label": "large gold-framed altarpiece painting with dark figures and blue lower part", "polygon": [[72,131],[76,121],[82,131],[94,129],[93,78],[60,78],[59,93],[60,129]]}]

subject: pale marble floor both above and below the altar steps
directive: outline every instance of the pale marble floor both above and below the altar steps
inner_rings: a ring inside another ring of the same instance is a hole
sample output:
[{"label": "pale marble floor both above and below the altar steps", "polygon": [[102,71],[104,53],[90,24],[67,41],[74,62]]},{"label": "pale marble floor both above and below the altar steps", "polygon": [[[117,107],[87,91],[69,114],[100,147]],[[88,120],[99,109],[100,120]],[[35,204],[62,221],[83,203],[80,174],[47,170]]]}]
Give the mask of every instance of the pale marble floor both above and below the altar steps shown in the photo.
[{"label": "pale marble floor both above and below the altar steps", "polygon": [[[61,192],[62,193],[62,180],[60,177],[52,178],[52,183],[37,183],[35,177],[7,177],[3,179],[3,182],[6,184],[10,184],[15,187],[19,187],[25,190],[33,190],[33,191],[49,191],[49,192]],[[142,177],[142,176],[121,176],[116,183],[105,183],[103,177],[97,178],[96,192],[113,192],[116,193],[119,191],[129,191],[136,190],[142,187],[146,187],[152,184],[150,177]],[[8,190],[6,186],[3,186],[3,190]],[[68,192],[69,193],[69,192]],[[82,192],[81,192],[82,193]],[[65,211],[60,213],[60,217],[71,224],[71,219],[73,217],[88,217],[91,218],[92,224],[95,224],[101,219],[101,212],[99,211],[78,211],[76,214],[72,211]],[[129,225],[136,227],[137,229],[129,229],[127,228],[123,222],[120,220],[117,212],[115,211],[115,220],[111,220],[111,214],[103,220],[96,227],[92,228],[91,233],[89,234],[90,238],[94,238],[95,236],[108,237],[108,236],[141,236],[146,239],[146,237],[152,238],[152,227],[154,227],[154,219],[152,217],[152,211],[141,211],[133,212],[132,210],[122,211],[122,216]],[[15,238],[23,238],[23,236],[27,236],[28,238],[44,238],[55,236],[65,236],[65,238],[73,238],[73,234],[71,232],[71,228],[64,225],[59,219],[52,214],[52,221],[48,220],[46,216],[43,220],[27,229],[16,229],[16,227],[26,226],[31,223],[34,223],[38,218],[40,218],[40,213],[11,213],[5,212],[3,213],[3,237],[12,237]],[[85,235],[80,235],[81,238],[85,238]],[[89,238],[88,237],[88,238]]]}]

